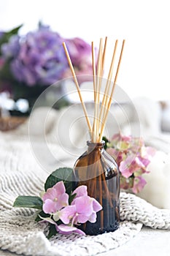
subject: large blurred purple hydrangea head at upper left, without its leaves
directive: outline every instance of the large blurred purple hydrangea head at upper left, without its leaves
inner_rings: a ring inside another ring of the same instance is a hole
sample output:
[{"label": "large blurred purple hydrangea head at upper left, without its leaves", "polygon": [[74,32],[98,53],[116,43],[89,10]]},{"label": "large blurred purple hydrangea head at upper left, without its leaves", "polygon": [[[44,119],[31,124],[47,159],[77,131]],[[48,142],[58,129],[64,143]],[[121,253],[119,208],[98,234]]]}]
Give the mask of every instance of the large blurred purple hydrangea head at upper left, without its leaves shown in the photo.
[{"label": "large blurred purple hydrangea head at upper left, without its leaves", "polygon": [[28,86],[50,85],[61,79],[68,65],[62,42],[58,33],[45,26],[28,33],[11,64],[15,78]]}]

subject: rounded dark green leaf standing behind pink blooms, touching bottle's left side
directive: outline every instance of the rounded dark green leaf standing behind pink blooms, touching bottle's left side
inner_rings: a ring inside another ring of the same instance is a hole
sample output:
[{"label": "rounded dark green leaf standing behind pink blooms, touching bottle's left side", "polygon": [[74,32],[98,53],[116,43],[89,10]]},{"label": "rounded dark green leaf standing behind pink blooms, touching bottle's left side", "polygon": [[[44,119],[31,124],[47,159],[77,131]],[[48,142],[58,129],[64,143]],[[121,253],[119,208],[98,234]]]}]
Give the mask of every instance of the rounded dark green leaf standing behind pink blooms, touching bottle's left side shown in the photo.
[{"label": "rounded dark green leaf standing behind pink blooms, touching bottle's left side", "polygon": [[72,168],[59,168],[48,176],[47,181],[45,182],[45,191],[47,191],[47,189],[50,187],[53,187],[58,181],[63,181],[63,184],[66,187],[66,193],[70,194],[72,192],[72,180]]}]

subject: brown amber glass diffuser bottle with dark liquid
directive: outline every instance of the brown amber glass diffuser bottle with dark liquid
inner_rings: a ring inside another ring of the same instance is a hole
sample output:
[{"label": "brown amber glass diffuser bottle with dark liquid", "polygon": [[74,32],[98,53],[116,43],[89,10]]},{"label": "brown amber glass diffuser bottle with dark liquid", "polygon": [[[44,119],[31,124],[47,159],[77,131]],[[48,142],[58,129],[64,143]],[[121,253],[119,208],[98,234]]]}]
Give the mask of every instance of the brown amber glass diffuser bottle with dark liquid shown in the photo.
[{"label": "brown amber glass diffuser bottle with dark liquid", "polygon": [[104,149],[104,141],[91,143],[74,165],[74,188],[88,187],[88,195],[103,207],[95,223],[79,226],[88,235],[117,230],[119,225],[120,174],[115,160]]}]

